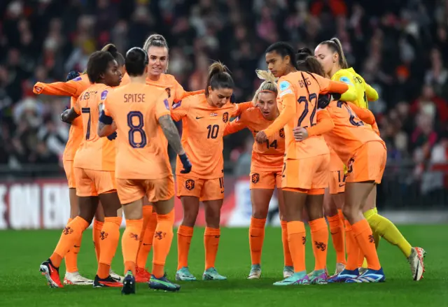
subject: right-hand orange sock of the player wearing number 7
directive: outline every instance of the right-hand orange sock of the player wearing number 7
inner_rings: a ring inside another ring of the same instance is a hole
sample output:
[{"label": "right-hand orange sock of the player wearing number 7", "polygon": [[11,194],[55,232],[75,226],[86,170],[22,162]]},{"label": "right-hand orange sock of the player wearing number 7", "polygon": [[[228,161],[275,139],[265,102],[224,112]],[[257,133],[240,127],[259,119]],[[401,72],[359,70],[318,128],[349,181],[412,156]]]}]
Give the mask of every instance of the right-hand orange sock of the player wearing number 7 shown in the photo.
[{"label": "right-hand orange sock of the player wearing number 7", "polygon": [[104,217],[104,226],[99,234],[99,245],[101,254],[99,255],[98,271],[99,278],[107,278],[111,269],[112,259],[115,256],[120,241],[120,225],[123,217]]}]

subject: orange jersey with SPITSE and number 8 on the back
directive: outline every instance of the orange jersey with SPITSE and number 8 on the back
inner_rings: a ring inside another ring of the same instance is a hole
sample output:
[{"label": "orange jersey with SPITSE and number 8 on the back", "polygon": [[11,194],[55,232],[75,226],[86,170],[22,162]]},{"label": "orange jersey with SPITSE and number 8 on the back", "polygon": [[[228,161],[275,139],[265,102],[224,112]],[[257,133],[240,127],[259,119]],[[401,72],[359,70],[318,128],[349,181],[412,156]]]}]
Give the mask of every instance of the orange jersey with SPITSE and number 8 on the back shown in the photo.
[{"label": "orange jersey with SPITSE and number 8 on the back", "polygon": [[130,83],[113,90],[104,113],[117,125],[116,178],[159,179],[172,174],[167,139],[158,122],[170,115],[165,89]]}]

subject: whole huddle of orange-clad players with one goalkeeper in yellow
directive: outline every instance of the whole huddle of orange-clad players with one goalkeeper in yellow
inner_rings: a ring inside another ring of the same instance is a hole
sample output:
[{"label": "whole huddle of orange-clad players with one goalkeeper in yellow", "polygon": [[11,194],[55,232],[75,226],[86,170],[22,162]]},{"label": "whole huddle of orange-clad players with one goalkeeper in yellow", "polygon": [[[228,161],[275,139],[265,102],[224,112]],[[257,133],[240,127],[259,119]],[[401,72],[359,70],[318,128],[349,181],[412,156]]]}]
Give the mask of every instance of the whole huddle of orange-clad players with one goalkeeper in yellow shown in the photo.
[{"label": "whole huddle of orange-clad players with one goalkeeper in yellow", "polygon": [[[402,250],[414,280],[423,277],[425,251],[413,248],[377,213],[376,185],[384,173],[386,145],[367,107],[378,94],[347,66],[337,38],[320,43],[314,55],[307,48],[297,54],[288,43],[270,45],[265,52],[269,71],[256,72],[264,81],[253,101],[244,103],[231,102],[235,84],[219,62],[209,66],[205,90],[184,91],[166,73],[168,51],[158,34],[125,57],[109,44],[90,56],[85,73],[71,72],[66,82],[34,85],[36,94],[71,97],[71,108],[61,115],[71,123],[63,157],[71,218],[40,266],[50,287],[63,287],[59,266],[65,259],[66,285],[121,287],[125,294],[135,293],[135,283],[180,289],[165,273],[175,194],[168,143],[178,155],[176,194],[183,206],[176,280],[196,280],[188,269],[188,253],[200,201],[207,224],[202,279],[227,279],[215,268],[224,197],[223,137],[244,128],[255,138],[249,279],[261,276],[265,222],[275,188],[284,279],[274,285],[383,282],[376,250],[380,237]],[[182,120],[182,138],[173,120]],[[305,210],[315,258],[311,273],[304,257]],[[123,212],[124,277],[111,270]],[[327,220],[337,254],[334,276],[326,269]],[[89,280],[78,272],[77,254],[92,221],[98,269]]]}]

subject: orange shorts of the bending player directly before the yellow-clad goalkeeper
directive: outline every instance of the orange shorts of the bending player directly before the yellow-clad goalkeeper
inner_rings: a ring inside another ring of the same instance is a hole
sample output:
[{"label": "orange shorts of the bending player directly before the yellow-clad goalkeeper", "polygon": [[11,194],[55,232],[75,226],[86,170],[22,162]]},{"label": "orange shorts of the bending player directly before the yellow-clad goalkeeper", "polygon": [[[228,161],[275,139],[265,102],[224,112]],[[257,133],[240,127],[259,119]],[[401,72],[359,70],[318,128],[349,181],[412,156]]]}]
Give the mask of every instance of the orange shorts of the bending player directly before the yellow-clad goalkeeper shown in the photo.
[{"label": "orange shorts of the bending player directly before the yellow-clad goalkeeper", "polygon": [[386,168],[386,146],[379,141],[371,141],[356,150],[347,164],[347,183],[374,181],[381,183]]}]

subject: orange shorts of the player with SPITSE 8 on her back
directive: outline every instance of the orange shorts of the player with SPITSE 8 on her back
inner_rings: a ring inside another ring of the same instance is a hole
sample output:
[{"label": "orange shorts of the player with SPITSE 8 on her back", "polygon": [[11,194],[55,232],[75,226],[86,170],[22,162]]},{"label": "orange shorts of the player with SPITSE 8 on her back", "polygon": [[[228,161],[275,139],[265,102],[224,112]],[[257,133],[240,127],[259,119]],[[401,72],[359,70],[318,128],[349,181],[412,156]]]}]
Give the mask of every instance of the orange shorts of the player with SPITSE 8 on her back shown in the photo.
[{"label": "orange shorts of the player with SPITSE 8 on her back", "polygon": [[151,203],[167,201],[174,197],[174,178],[172,175],[159,179],[120,179],[116,178],[120,203],[130,204],[143,197]]}]

